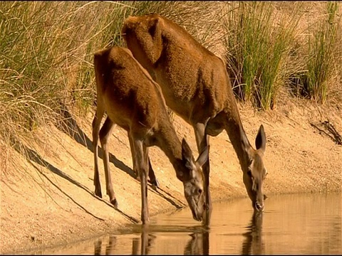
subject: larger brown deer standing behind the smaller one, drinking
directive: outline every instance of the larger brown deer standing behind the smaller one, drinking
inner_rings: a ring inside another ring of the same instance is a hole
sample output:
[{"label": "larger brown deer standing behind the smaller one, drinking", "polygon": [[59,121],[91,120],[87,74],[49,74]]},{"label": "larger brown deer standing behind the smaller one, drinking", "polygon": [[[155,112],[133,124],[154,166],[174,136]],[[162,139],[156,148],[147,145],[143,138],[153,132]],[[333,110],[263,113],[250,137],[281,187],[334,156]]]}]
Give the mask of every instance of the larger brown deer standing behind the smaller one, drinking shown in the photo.
[{"label": "larger brown deer standing behind the smaller one, drinking", "polygon": [[[262,183],[264,127],[254,149],[242,127],[239,109],[222,59],[199,44],[177,23],[158,14],[129,16],[122,29],[133,56],[160,85],[167,106],[195,130],[197,149],[209,145],[209,135],[227,131],[243,171],[243,181],[254,209],[264,209]],[[202,166],[207,213],[211,211],[209,158]]]}]

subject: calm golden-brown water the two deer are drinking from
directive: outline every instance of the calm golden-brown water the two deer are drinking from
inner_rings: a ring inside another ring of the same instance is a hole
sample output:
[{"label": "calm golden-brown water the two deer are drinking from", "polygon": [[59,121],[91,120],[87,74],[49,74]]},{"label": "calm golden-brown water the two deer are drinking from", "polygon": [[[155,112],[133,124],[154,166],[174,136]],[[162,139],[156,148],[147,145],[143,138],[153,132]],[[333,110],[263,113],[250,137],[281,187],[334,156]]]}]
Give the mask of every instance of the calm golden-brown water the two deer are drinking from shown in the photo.
[{"label": "calm golden-brown water the two deer are drinking from", "polygon": [[341,193],[269,196],[261,215],[248,198],[214,203],[204,228],[187,208],[128,231],[31,254],[342,254]]}]

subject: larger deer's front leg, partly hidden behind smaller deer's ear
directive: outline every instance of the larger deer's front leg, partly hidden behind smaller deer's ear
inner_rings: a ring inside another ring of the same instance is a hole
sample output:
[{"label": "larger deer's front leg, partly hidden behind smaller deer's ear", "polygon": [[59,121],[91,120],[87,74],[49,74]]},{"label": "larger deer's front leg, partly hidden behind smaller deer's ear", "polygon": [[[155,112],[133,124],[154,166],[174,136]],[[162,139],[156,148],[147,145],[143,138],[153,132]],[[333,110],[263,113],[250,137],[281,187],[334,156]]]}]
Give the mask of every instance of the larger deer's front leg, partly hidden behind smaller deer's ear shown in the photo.
[{"label": "larger deer's front leg, partly hidden behind smaller deer's ear", "polygon": [[[197,149],[199,154],[205,149],[206,146],[209,146],[209,135],[205,132],[206,124],[197,123],[194,126],[195,129],[195,137],[197,143]],[[212,200],[210,197],[210,189],[209,189],[209,157],[208,160],[202,166],[203,174],[204,174],[204,194],[205,194],[205,205],[206,205],[206,219],[209,221],[211,212],[212,212]],[[205,220],[204,220],[205,222]]]}]

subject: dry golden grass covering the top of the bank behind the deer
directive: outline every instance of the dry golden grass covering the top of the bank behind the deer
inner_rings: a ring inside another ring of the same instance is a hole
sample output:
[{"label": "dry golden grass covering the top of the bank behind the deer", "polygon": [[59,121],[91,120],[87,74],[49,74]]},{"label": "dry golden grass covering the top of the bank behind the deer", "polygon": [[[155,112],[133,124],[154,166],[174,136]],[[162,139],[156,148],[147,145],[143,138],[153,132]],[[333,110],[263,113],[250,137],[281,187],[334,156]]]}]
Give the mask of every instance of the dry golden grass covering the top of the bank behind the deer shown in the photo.
[{"label": "dry golden grass covering the top of the bank behind the deer", "polygon": [[[224,48],[227,28],[237,31],[237,24],[227,23],[227,17],[239,16],[239,10],[234,6],[237,3],[222,1],[1,1],[1,143],[14,146],[26,137],[33,137],[37,127],[65,119],[61,114],[63,109],[83,116],[94,107],[93,53],[108,46],[124,46],[120,28],[128,15],[156,12],[167,16],[222,57],[227,52]],[[316,25],[319,28],[320,21],[324,21],[326,2],[290,4],[277,1],[268,8],[276,24],[268,23],[269,27],[265,28],[265,31],[271,31],[267,41],[272,47],[279,41],[276,39],[279,31],[286,34],[289,29],[294,29],[287,27],[284,21],[298,23],[294,35],[280,38],[281,43],[285,43],[284,48],[279,48],[278,52],[277,48],[270,48],[265,52],[268,57],[264,58],[264,62],[254,63],[259,75],[260,68],[277,67],[272,71],[272,76],[265,76],[266,73],[262,72],[264,77],[261,75],[257,84],[259,88],[266,88],[257,90],[260,102],[266,99],[266,103],[262,104],[274,105],[279,97],[279,87],[291,89],[292,92],[304,90],[299,78],[308,70],[308,29]],[[336,29],[333,54],[329,58],[332,67],[325,82],[326,99],[336,104],[341,102],[342,97],[341,13],[339,4],[336,11],[339,27]],[[264,40],[265,34],[260,35],[258,40]],[[237,47],[239,38],[235,39]],[[274,56],[279,58],[273,60]],[[240,58],[245,60],[247,56]],[[267,63],[268,60],[278,61],[278,64]],[[270,82],[266,85],[267,80]],[[271,95],[271,100],[262,96],[261,92]],[[10,158],[4,151],[1,150],[1,172],[4,166],[6,169]]]}]

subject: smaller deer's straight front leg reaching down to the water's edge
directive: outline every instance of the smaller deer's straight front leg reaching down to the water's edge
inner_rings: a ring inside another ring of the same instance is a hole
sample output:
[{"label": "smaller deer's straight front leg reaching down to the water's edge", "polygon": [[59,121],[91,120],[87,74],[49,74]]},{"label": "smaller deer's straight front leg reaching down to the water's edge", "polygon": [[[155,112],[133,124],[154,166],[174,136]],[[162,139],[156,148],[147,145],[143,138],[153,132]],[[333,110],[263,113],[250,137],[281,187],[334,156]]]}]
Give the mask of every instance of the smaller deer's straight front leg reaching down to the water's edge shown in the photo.
[{"label": "smaller deer's straight front leg reaching down to the water's edge", "polygon": [[[133,137],[134,138],[134,137]],[[141,221],[142,224],[149,222],[148,204],[147,204],[147,171],[148,171],[148,151],[142,141],[133,139],[133,146],[136,157],[136,164],[140,174],[141,190]]]}]

